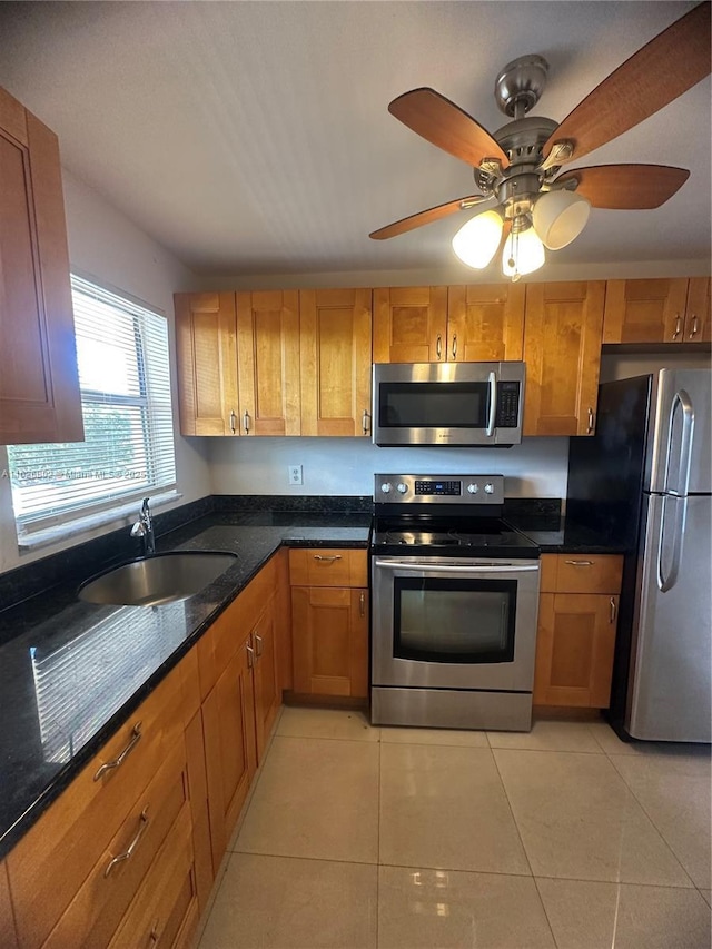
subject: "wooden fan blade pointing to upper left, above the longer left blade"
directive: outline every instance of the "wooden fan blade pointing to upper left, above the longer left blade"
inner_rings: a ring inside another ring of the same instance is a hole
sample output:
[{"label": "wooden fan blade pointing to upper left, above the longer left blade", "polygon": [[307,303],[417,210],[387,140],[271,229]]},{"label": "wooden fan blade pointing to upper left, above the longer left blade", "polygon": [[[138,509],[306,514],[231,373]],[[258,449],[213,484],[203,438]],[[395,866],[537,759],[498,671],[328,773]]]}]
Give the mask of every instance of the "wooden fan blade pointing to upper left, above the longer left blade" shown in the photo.
[{"label": "wooden fan blade pointing to upper left, above the longer left blade", "polygon": [[503,168],[510,164],[490,132],[435,89],[404,92],[390,102],[388,111],[409,129],[473,168],[483,158],[496,158]]}]

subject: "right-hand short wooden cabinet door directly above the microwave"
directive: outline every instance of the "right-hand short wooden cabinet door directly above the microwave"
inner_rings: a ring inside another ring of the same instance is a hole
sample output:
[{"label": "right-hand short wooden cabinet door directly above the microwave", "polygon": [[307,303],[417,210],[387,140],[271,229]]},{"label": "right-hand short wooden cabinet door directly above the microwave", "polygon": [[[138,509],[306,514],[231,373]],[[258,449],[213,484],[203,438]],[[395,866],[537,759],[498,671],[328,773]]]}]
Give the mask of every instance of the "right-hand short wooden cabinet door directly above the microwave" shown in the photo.
[{"label": "right-hand short wooden cabinet door directly above the microwave", "polygon": [[524,284],[448,287],[447,358],[456,362],[521,359]]}]

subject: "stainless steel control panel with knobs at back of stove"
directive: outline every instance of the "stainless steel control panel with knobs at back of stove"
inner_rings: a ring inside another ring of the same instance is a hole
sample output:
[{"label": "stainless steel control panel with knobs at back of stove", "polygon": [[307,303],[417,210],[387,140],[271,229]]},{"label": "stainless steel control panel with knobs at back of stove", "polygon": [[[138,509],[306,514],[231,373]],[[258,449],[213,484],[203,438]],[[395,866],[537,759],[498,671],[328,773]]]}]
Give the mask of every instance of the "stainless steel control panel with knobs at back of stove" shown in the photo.
[{"label": "stainless steel control panel with knobs at back of stove", "polygon": [[504,475],[377,474],[376,504],[502,504]]}]

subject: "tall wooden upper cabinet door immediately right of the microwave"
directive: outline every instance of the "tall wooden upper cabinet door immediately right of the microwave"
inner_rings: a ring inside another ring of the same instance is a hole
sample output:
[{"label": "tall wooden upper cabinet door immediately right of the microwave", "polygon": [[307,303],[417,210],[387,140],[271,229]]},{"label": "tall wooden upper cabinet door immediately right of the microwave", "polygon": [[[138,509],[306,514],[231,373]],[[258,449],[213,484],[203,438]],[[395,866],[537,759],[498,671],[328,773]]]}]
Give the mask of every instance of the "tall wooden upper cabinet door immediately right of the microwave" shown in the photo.
[{"label": "tall wooden upper cabinet door immediately right of the microwave", "polygon": [[524,435],[594,432],[603,280],[526,288]]}]

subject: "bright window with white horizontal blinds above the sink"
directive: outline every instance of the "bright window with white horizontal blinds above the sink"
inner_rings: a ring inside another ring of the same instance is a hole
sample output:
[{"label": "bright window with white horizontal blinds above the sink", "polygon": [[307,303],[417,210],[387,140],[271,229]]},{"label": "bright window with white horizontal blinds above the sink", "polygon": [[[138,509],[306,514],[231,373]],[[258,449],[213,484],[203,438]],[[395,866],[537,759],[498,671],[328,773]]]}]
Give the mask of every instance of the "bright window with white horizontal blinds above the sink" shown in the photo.
[{"label": "bright window with white horizontal blinds above the sink", "polygon": [[73,275],[71,288],[86,441],[8,448],[20,537],[176,483],[166,318]]}]

